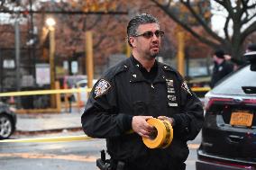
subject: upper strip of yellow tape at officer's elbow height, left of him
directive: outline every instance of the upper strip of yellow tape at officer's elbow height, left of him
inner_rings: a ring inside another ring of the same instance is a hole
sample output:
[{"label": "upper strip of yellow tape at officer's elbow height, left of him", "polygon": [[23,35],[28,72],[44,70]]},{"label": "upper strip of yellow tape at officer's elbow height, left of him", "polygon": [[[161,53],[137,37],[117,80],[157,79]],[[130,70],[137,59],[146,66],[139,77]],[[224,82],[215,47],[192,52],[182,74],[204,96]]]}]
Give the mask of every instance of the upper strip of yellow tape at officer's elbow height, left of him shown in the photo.
[{"label": "upper strip of yellow tape at officer's elbow height, left of him", "polygon": [[20,96],[20,95],[41,95],[41,94],[73,94],[81,92],[90,92],[91,88],[71,88],[71,89],[56,89],[56,90],[33,90],[33,91],[21,91],[21,92],[7,92],[0,93],[0,97],[5,96]]}]

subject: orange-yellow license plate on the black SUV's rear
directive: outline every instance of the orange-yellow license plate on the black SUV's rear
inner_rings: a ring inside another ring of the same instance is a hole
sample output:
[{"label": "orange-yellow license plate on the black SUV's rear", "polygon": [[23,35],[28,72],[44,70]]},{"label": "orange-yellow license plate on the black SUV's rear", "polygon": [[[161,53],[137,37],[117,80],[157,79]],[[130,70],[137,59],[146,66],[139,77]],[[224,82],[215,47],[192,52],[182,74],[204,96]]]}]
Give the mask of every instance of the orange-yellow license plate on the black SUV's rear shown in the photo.
[{"label": "orange-yellow license plate on the black SUV's rear", "polygon": [[230,124],[233,126],[251,127],[253,114],[248,112],[232,112]]}]

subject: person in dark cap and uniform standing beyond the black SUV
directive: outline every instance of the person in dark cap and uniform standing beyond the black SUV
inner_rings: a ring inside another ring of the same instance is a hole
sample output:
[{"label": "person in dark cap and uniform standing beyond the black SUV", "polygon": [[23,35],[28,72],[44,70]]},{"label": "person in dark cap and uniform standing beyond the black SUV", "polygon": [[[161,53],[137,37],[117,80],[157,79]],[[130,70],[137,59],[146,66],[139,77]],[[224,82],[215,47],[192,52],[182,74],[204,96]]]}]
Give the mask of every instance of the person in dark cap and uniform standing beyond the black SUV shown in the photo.
[{"label": "person in dark cap and uniform standing beyond the black SUV", "polygon": [[213,56],[214,68],[211,78],[211,87],[213,88],[218,81],[220,81],[224,76],[227,76],[233,72],[233,64],[225,59],[225,54],[223,49],[216,49]]}]

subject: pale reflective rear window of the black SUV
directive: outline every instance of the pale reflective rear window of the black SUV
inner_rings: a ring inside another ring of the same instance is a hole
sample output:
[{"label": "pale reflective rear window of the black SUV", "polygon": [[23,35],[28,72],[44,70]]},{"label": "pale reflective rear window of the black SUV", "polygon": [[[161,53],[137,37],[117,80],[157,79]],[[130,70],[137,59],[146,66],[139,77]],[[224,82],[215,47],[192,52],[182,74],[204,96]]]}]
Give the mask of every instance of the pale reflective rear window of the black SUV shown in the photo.
[{"label": "pale reflective rear window of the black SUV", "polygon": [[215,86],[212,92],[214,94],[244,95],[242,87],[246,86],[256,87],[256,72],[251,71],[250,66],[242,67],[233,75],[225,78],[223,82]]}]

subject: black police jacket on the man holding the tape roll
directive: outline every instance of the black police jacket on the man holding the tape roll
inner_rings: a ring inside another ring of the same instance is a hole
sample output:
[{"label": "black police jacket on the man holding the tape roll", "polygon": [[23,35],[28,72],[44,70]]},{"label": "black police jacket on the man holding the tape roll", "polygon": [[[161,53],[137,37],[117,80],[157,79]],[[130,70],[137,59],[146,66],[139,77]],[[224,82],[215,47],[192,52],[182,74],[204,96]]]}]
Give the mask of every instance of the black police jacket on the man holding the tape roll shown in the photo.
[{"label": "black police jacket on the man holding the tape roll", "polygon": [[[88,136],[106,139],[114,160],[137,169],[173,169],[173,164],[182,164],[189,152],[187,140],[197,137],[204,121],[201,102],[178,72],[161,63],[157,66],[153,83],[142,76],[131,58],[110,68],[93,87],[82,115]],[[169,148],[147,148],[138,134],[128,134],[133,115],[174,118],[174,139]]]}]

